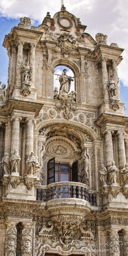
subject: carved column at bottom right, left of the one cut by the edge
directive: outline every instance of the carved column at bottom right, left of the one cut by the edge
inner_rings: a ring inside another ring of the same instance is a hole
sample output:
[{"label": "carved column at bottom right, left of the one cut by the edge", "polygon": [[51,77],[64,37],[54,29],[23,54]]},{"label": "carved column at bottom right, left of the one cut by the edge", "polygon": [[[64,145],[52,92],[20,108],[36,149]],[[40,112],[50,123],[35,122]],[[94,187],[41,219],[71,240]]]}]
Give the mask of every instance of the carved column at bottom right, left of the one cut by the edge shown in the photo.
[{"label": "carved column at bottom right, left of the one cut by the edge", "polygon": [[118,230],[110,230],[109,233],[109,256],[120,256]]}]

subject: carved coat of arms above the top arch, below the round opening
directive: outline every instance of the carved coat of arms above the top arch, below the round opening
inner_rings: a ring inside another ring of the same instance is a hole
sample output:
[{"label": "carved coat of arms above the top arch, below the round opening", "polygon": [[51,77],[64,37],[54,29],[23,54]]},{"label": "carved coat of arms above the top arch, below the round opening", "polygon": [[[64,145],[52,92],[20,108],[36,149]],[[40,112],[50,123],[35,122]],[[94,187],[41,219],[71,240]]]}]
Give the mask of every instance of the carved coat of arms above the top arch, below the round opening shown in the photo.
[{"label": "carved coat of arms above the top arch, below the round opening", "polygon": [[62,33],[58,38],[58,45],[60,46],[63,54],[70,54],[76,48],[76,40],[69,33]]}]

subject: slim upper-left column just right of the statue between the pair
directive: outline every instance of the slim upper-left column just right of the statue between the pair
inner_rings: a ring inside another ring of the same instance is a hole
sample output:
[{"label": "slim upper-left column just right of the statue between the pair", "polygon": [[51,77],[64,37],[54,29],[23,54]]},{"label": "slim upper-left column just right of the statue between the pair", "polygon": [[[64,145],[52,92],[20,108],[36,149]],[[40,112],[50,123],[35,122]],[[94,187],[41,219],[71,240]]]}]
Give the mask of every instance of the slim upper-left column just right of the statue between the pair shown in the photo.
[{"label": "slim upper-left column just right of the statue between the pair", "polygon": [[36,44],[30,43],[30,67],[32,68],[31,85],[35,85],[35,48]]}]

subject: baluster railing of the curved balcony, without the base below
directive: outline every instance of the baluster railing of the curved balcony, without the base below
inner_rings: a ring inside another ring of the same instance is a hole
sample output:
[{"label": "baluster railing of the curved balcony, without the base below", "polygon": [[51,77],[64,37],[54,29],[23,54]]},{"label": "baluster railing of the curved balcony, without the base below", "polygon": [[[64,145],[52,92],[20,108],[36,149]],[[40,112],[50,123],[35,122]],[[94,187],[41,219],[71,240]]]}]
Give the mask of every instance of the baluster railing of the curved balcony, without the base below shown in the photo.
[{"label": "baluster railing of the curved balcony, without the base below", "polygon": [[56,182],[37,188],[37,200],[47,202],[59,198],[79,198],[97,205],[97,194],[89,193],[89,187],[77,182]]}]

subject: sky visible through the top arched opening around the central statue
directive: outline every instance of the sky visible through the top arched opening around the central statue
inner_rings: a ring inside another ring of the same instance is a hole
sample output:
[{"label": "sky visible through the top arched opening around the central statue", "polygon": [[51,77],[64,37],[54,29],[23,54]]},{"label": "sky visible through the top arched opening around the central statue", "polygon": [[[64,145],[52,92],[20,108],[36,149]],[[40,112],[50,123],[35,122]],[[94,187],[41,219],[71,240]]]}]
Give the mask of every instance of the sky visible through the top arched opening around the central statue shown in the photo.
[{"label": "sky visible through the top arched opening around the central statue", "polygon": [[[66,66],[62,66],[62,65],[55,67],[55,69],[54,69],[54,89],[55,89],[55,87],[57,87],[58,91],[60,89],[59,77],[63,73],[64,69],[67,70],[66,74],[74,79],[74,73],[70,68],[68,68]],[[71,87],[70,87],[69,93],[71,91],[75,91],[75,80],[71,82]]]}]

